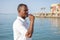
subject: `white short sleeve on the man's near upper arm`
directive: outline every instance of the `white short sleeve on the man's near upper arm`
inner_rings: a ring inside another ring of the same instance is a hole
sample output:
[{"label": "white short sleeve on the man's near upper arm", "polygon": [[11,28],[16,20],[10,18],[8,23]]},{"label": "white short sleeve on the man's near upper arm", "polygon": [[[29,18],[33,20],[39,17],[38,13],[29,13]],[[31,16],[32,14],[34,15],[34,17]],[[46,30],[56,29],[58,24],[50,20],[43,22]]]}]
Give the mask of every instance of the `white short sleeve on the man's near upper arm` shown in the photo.
[{"label": "white short sleeve on the man's near upper arm", "polygon": [[16,23],[13,26],[14,26],[14,29],[17,30],[21,34],[25,34],[27,32],[27,29],[22,23]]}]

